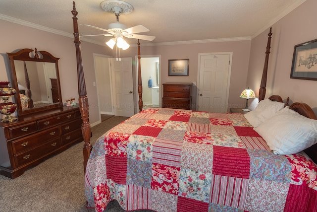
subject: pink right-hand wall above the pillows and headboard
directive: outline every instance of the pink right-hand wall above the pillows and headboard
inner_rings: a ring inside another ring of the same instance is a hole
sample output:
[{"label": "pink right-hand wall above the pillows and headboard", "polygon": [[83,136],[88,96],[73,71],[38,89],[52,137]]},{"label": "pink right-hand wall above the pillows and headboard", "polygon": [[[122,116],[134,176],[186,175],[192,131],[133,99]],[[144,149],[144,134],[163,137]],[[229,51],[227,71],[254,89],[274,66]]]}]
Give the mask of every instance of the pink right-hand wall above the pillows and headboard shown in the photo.
[{"label": "pink right-hand wall above the pillows and headboard", "polygon": [[[294,46],[317,39],[317,1],[307,0],[272,25],[271,53],[269,55],[266,97],[278,94],[292,102],[305,102],[317,113],[317,81],[291,79]],[[269,29],[252,40],[247,83],[260,88]],[[260,80],[259,80],[260,79]],[[258,90],[257,90],[258,92]],[[258,93],[257,93],[258,94]]]}]

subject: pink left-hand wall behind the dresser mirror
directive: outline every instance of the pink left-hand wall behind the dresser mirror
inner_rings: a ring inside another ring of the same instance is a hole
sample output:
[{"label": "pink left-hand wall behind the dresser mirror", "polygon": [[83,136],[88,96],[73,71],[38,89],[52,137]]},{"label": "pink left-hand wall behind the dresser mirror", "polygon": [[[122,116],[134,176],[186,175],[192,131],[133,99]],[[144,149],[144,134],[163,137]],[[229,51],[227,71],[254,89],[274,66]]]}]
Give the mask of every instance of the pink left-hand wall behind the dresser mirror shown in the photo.
[{"label": "pink left-hand wall behind the dresser mirror", "polygon": [[[0,58],[0,81],[10,81],[7,52],[14,52],[24,48],[37,48],[38,51],[48,51],[54,57],[60,58],[58,68],[63,102],[70,97],[75,97],[76,102],[78,102],[74,38],[56,35],[4,20],[0,20],[0,26],[0,54],[2,56]],[[93,87],[93,81],[96,81],[93,53],[111,55],[111,52],[104,46],[87,42],[82,42],[81,51],[87,96],[90,104],[90,121],[94,123],[99,120],[99,114],[96,87]]]}]

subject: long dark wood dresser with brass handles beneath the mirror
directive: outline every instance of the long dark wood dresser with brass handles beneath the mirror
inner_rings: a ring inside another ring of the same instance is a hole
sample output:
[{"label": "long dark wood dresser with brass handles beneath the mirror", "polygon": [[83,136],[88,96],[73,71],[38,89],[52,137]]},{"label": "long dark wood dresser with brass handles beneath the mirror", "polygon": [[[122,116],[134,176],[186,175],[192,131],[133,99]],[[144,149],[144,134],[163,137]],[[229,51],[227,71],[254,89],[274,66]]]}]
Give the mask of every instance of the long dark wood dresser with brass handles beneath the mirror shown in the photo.
[{"label": "long dark wood dresser with brass handles beneath the mirror", "polygon": [[0,174],[16,178],[53,154],[83,141],[78,106],[0,123]]}]

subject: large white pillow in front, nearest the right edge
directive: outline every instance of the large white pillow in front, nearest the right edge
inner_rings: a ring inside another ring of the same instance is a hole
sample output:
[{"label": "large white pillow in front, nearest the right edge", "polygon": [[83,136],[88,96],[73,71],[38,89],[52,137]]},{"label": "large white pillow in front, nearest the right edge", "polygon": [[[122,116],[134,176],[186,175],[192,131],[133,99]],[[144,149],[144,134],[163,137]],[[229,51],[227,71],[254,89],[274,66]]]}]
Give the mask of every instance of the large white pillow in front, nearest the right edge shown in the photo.
[{"label": "large white pillow in front, nearest the right edge", "polygon": [[302,116],[288,106],[254,130],[274,154],[295,154],[317,142],[317,120]]}]

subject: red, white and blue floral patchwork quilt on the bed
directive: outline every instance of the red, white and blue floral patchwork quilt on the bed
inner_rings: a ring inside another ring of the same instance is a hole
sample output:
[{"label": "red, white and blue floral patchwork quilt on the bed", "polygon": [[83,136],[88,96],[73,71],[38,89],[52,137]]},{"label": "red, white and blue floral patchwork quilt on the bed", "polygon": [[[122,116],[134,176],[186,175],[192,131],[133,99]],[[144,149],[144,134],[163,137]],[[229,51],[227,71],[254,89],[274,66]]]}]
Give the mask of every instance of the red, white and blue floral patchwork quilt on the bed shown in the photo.
[{"label": "red, white and blue floral patchwork quilt on the bed", "polygon": [[126,211],[317,212],[317,166],[275,155],[243,114],[139,112],[94,144],[87,207]]}]

